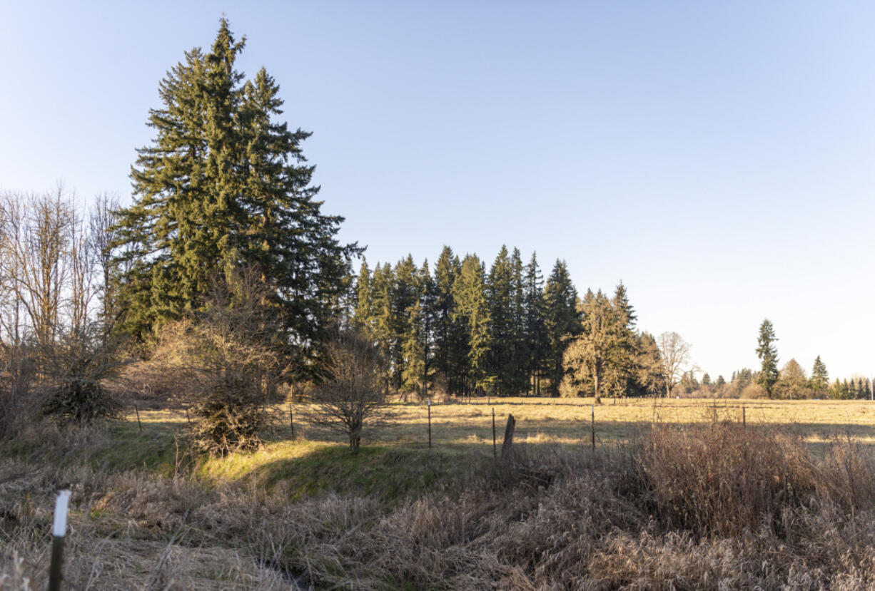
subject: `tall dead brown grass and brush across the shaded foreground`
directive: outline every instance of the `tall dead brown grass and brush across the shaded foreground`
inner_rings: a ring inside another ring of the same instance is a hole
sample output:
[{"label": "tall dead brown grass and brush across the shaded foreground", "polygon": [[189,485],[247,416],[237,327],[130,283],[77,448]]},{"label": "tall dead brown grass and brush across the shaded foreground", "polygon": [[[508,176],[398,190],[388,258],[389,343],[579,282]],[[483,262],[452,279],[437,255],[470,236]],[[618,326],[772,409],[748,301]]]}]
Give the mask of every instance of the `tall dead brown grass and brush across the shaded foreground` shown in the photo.
[{"label": "tall dead brown grass and brush across the shaded foreground", "polygon": [[0,588],[45,584],[60,483],[75,485],[73,588],[875,587],[875,456],[850,438],[814,455],[790,432],[714,423],[514,458],[396,506],[0,462]]}]

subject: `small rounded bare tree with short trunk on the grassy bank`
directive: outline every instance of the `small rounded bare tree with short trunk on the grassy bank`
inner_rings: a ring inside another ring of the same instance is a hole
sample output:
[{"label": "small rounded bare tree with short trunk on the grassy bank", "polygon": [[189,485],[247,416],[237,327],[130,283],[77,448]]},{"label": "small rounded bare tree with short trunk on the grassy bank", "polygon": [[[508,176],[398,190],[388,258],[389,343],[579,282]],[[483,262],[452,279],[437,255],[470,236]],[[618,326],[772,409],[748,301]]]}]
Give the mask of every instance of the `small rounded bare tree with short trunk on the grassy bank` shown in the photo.
[{"label": "small rounded bare tree with short trunk on the grassy bank", "polygon": [[324,359],[325,380],[302,414],[312,425],[346,435],[357,452],[366,426],[373,431],[391,422],[384,361],[374,344],[354,329],[335,330],[325,344]]}]

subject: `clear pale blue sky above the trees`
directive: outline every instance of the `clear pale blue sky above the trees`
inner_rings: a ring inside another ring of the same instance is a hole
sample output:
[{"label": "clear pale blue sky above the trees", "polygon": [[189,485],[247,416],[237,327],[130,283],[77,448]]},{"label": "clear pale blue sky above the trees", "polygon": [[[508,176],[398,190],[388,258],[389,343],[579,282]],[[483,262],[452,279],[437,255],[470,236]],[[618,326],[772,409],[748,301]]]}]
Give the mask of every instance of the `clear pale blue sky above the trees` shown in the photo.
[{"label": "clear pale blue sky above the trees", "polygon": [[130,199],[158,81],[224,12],[311,130],[325,211],[367,258],[626,283],[705,371],[875,374],[875,4],[0,0],[0,189]]}]

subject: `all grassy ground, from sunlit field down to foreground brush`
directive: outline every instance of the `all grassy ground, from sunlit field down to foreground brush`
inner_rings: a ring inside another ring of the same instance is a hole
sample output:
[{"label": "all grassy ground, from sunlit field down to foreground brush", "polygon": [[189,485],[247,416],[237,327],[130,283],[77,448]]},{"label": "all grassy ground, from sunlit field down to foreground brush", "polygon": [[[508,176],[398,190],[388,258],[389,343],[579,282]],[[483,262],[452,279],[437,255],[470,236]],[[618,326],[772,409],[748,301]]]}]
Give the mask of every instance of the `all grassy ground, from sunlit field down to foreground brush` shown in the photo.
[{"label": "all grassy ground, from sunlit field down to foreground brush", "polygon": [[424,407],[398,405],[357,455],[288,424],[255,452],[186,455],[170,411],[141,413],[142,432],[44,424],[0,460],[0,588],[45,585],[62,487],[69,588],[875,584],[865,403],[744,401],[745,427],[740,400],[620,401],[597,408],[593,453],[582,402],[501,400],[499,425],[519,421],[504,461],[482,404],[433,407],[430,449]]}]

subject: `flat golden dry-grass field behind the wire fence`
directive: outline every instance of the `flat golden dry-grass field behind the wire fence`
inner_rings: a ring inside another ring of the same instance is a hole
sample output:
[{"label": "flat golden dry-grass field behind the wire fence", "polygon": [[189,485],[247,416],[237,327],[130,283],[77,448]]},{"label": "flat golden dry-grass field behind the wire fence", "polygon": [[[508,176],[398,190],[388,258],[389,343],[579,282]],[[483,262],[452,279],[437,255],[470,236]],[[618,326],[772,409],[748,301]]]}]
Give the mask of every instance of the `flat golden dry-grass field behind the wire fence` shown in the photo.
[{"label": "flat golden dry-grass field behind the wire fence", "polygon": [[[516,434],[523,442],[559,442],[588,445],[591,441],[592,399],[501,398],[466,402],[436,402],[431,406],[433,444],[492,446],[492,412],[498,442],[507,414],[514,414]],[[428,407],[424,403],[396,404],[396,424],[368,437],[368,442],[423,445],[428,441]],[[811,443],[827,442],[836,435],[851,435],[859,442],[875,443],[875,403],[868,400],[714,400],[627,399],[606,400],[595,407],[597,441],[613,446],[638,435],[651,425],[689,425],[714,421],[742,421],[753,428],[793,427]],[[290,436],[288,407],[276,407],[278,430],[274,437]],[[186,423],[182,411],[140,411],[144,424],[172,431]],[[129,414],[128,421],[136,421]],[[296,422],[296,435],[315,441],[341,439]]]}]

